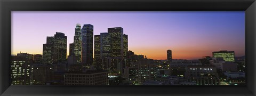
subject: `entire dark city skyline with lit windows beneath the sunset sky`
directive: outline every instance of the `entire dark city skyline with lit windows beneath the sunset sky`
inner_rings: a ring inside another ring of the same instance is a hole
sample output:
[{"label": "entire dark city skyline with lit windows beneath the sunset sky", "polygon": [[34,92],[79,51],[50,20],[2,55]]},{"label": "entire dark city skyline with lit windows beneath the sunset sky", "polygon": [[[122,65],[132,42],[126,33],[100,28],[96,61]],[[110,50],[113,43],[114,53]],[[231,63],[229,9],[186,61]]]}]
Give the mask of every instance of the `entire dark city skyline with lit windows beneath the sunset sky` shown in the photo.
[{"label": "entire dark city skyline with lit windows beneath the sunset sky", "polygon": [[128,51],[122,27],[93,35],[93,25],[76,24],[68,57],[67,36],[56,32],[43,55],[12,55],[11,79],[14,85],[244,85],[244,70],[245,58],[235,59],[234,51],[178,60],[167,50],[167,60],[153,60]]}]

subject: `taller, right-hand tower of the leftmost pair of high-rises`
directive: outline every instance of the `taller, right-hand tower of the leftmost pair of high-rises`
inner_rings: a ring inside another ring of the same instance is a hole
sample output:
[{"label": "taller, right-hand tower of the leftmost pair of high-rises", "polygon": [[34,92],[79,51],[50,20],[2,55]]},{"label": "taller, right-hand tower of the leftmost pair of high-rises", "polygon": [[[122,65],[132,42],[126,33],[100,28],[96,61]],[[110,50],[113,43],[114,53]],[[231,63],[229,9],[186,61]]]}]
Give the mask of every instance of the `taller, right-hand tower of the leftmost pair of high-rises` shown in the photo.
[{"label": "taller, right-hand tower of the leftmost pair of high-rises", "polygon": [[67,61],[67,36],[56,32],[53,43],[53,63]]}]

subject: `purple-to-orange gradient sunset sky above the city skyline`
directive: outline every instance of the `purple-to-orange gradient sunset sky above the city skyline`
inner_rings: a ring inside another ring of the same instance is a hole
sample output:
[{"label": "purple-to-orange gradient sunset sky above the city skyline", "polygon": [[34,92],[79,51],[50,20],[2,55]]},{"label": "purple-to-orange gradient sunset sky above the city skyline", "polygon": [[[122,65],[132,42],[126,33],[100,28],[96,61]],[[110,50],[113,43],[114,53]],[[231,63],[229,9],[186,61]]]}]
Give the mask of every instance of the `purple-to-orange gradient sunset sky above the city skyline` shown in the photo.
[{"label": "purple-to-orange gradient sunset sky above the city skyline", "polygon": [[199,59],[213,51],[245,55],[244,11],[13,11],[12,53],[43,54],[46,36],[64,33],[73,43],[76,23],[94,26],[94,35],[122,27],[128,50],[151,59]]}]

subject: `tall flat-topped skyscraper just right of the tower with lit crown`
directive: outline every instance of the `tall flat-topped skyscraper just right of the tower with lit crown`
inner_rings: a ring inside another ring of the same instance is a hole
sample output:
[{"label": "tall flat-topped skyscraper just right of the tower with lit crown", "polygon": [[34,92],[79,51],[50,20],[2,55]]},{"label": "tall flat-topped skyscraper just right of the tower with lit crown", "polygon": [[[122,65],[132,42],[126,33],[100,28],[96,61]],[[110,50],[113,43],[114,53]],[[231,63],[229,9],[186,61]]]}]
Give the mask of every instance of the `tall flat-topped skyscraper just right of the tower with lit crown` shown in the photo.
[{"label": "tall flat-topped skyscraper just right of the tower with lit crown", "polygon": [[82,64],[91,66],[93,63],[93,25],[82,28]]}]

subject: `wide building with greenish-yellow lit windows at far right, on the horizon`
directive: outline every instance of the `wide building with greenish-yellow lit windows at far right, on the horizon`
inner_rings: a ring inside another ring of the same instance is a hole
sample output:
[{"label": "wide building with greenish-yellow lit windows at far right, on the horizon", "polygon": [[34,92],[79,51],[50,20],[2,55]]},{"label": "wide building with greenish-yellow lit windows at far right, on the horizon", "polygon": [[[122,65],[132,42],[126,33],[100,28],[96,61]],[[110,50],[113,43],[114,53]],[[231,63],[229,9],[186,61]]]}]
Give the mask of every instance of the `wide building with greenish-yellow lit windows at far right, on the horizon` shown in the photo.
[{"label": "wide building with greenish-yellow lit windows at far right, on the horizon", "polygon": [[213,58],[223,58],[225,61],[235,61],[235,52],[234,51],[218,51],[212,52]]}]

